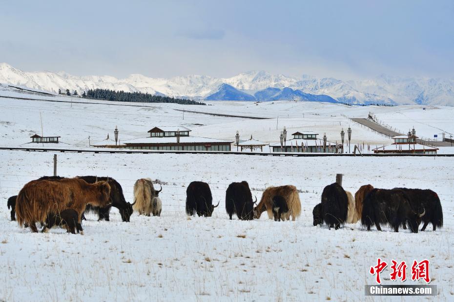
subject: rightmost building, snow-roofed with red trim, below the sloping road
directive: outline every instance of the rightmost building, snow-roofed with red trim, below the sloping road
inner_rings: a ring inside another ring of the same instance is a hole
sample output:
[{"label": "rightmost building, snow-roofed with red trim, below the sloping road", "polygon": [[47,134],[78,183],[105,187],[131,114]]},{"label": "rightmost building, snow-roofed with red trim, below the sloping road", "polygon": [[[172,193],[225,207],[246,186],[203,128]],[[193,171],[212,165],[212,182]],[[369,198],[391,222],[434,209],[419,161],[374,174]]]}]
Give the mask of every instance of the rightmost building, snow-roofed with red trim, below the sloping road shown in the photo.
[{"label": "rightmost building, snow-roofed with red trim, below the sloping road", "polygon": [[373,153],[403,153],[403,154],[436,154],[438,148],[417,143],[418,137],[413,129],[409,135],[398,135],[392,137],[394,142],[391,145],[372,149]]}]

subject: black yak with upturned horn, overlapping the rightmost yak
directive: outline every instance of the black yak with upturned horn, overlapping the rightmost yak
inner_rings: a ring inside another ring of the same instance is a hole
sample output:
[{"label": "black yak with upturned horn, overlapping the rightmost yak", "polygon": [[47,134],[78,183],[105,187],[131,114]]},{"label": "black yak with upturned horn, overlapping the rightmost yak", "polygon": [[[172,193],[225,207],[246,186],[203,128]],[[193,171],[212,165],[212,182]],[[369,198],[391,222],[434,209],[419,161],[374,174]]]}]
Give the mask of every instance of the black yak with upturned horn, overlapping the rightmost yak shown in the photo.
[{"label": "black yak with upturned horn, overlapping the rightmost yak", "polygon": [[389,224],[394,232],[399,231],[399,226],[408,221],[410,230],[418,232],[420,219],[426,214],[425,209],[418,214],[411,206],[408,195],[400,189],[372,189],[363,202],[361,224],[371,230],[375,224],[381,231],[380,225]]}]

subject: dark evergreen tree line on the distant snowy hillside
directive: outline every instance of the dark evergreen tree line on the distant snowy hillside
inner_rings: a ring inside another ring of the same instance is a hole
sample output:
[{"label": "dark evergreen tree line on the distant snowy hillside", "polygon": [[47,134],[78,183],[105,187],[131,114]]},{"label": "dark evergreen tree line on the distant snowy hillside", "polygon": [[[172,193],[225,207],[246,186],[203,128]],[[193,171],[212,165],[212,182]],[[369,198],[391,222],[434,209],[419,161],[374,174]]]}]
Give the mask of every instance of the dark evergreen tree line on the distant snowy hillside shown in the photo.
[{"label": "dark evergreen tree line on the distant snowy hillside", "polygon": [[129,101],[129,102],[144,102],[144,103],[177,103],[182,105],[206,105],[206,103],[170,98],[164,96],[157,96],[142,92],[124,92],[109,90],[109,89],[90,89],[84,91],[82,94],[83,98],[105,100],[105,101]]}]

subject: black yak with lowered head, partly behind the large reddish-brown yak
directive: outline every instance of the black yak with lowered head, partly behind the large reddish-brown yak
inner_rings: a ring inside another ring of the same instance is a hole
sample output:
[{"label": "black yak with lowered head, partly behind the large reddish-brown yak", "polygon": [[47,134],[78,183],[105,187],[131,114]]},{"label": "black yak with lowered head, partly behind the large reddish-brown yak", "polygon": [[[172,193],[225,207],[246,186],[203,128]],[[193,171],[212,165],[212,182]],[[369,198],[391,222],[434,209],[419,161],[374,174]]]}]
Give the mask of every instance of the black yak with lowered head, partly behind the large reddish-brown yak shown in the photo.
[{"label": "black yak with lowered head, partly behind the large reddish-brown yak", "polygon": [[130,217],[133,213],[132,204],[126,202],[126,200],[124,199],[123,188],[120,185],[120,183],[118,183],[118,181],[108,177],[96,176],[78,176],[77,178],[83,179],[88,183],[95,183],[96,181],[107,181],[110,185],[110,199],[112,201],[112,205],[108,205],[103,208],[99,206],[87,205],[85,213],[92,211],[98,214],[98,221],[100,220],[110,221],[109,218],[110,208],[114,206],[120,212],[122,221],[129,222]]}]

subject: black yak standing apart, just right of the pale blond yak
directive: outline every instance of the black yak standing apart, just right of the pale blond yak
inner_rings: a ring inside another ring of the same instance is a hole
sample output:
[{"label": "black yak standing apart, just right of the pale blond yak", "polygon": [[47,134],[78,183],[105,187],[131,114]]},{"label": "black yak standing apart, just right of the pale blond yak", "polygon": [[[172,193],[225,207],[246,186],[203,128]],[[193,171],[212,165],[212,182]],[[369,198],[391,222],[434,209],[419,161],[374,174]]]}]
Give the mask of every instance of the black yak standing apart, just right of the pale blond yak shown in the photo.
[{"label": "black yak standing apart, just right of the pale blond yak", "polygon": [[186,214],[211,217],[214,208],[219,206],[213,205],[213,197],[209,185],[203,181],[192,181],[186,189]]}]

